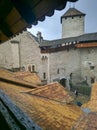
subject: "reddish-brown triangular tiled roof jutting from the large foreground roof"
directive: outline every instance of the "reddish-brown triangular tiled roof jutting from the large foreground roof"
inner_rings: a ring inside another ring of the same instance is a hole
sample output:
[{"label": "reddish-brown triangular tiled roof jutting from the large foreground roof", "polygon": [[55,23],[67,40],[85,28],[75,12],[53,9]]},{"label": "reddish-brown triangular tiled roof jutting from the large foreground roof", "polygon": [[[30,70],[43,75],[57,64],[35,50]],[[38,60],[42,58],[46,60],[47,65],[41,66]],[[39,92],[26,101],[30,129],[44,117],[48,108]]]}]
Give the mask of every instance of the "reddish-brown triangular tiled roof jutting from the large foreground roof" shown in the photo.
[{"label": "reddish-brown triangular tiled roof jutting from the large foreground roof", "polygon": [[35,88],[29,91],[29,94],[65,103],[69,103],[73,100],[67,90],[58,82],[50,83],[48,85]]}]

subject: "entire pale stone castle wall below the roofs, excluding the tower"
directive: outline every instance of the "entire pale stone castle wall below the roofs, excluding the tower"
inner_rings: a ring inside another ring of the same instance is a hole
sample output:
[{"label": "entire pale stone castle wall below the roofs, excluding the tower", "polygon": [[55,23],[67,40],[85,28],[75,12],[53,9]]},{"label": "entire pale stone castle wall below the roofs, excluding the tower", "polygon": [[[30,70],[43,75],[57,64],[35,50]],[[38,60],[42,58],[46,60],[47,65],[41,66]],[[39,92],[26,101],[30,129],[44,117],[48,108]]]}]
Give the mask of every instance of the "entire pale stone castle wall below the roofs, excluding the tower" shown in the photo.
[{"label": "entire pale stone castle wall below the roofs, excluding the tower", "polygon": [[29,32],[0,45],[1,67],[34,71],[48,83],[56,79],[70,79],[72,76],[74,84],[87,81],[91,85],[92,81],[97,80],[96,58],[97,47],[41,53],[39,43]]}]

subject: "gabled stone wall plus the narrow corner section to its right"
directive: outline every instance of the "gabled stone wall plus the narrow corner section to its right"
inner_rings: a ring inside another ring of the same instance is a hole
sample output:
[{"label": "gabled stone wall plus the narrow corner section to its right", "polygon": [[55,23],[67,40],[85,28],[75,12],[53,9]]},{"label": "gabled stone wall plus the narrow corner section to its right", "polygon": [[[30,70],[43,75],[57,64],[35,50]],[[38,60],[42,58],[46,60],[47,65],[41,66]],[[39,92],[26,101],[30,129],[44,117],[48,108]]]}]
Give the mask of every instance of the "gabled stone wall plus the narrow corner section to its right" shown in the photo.
[{"label": "gabled stone wall plus the narrow corner section to its right", "polygon": [[[31,36],[30,33],[24,32],[20,36],[20,65],[26,71],[34,71],[43,80],[43,74],[46,73],[48,77],[48,58],[43,59],[40,53],[39,43]],[[30,68],[30,70],[29,70]]]}]

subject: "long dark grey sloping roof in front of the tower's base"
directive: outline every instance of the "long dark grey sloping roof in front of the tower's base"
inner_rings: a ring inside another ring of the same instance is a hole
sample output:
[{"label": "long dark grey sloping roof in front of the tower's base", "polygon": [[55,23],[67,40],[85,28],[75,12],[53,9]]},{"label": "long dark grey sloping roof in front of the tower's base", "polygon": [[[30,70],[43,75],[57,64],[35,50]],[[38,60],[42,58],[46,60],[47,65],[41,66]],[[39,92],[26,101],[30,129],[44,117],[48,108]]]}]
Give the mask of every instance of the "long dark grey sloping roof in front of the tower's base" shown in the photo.
[{"label": "long dark grey sloping roof in front of the tower's base", "polygon": [[56,39],[52,41],[44,41],[40,44],[40,47],[49,47],[49,46],[56,46],[63,43],[80,43],[80,42],[93,42],[97,41],[97,32],[96,33],[87,33],[77,37],[70,37],[70,38],[62,38]]}]

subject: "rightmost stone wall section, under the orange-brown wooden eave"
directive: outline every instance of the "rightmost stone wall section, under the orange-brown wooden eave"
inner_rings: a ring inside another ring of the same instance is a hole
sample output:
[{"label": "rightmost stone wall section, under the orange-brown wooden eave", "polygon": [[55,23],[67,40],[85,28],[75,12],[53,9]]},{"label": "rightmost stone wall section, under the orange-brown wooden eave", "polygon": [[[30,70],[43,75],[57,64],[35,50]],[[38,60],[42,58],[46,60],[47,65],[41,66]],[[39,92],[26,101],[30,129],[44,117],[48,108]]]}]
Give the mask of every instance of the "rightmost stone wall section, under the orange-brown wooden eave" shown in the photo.
[{"label": "rightmost stone wall section, under the orange-brown wooden eave", "polygon": [[81,49],[81,75],[90,85],[97,81],[97,47]]}]

